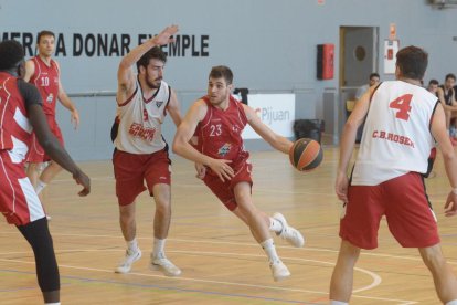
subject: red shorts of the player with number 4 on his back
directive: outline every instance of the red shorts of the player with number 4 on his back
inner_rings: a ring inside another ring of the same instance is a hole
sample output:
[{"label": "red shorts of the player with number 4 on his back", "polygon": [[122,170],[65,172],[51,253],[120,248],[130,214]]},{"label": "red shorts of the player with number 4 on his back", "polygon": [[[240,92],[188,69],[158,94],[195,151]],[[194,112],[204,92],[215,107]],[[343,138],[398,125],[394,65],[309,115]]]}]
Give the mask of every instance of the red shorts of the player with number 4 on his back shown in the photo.
[{"label": "red shorts of the player with number 4 on his back", "polygon": [[340,236],[355,246],[375,249],[380,221],[385,215],[389,230],[404,248],[426,248],[439,243],[435,214],[424,180],[408,172],[379,186],[350,186]]}]

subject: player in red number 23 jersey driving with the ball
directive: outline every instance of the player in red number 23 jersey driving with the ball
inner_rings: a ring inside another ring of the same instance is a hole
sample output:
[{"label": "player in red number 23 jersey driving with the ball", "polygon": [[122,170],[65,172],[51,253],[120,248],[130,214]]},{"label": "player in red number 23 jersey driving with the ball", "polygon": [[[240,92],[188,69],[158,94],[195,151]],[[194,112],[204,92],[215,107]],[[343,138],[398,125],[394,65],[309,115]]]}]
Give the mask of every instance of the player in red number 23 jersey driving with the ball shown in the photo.
[{"label": "player in red number 23 jersey driving with the ball", "polygon": [[[234,99],[231,95],[233,87],[233,74],[228,67],[214,66],[211,70],[208,95],[191,106],[178,127],[173,151],[196,162],[198,177],[249,227],[268,256],[274,280],[280,281],[290,272],[278,257],[268,230],[295,246],[302,246],[305,240],[300,232],[287,224],[283,214],[269,218],[253,204],[252,165],[241,135],[249,124],[279,151],[288,154],[293,144],[264,125],[253,108]],[[189,144],[193,135],[198,137],[195,146]]]}]

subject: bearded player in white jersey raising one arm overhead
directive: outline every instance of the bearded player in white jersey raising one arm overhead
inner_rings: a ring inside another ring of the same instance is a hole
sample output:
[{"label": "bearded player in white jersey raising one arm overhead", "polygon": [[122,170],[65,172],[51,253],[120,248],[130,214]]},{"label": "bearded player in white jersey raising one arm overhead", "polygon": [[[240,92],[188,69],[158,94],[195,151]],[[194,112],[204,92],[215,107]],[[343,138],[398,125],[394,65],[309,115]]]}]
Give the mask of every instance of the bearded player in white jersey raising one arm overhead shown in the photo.
[{"label": "bearded player in white jersey raising one arm overhead", "polygon": [[[181,273],[164,254],[171,219],[171,162],[161,133],[166,114],[169,113],[178,126],[181,113],[174,91],[162,81],[167,55],[159,48],[172,42],[171,36],[177,32],[177,25],[168,27],[157,36],[132,49],[121,60],[117,72],[117,127],[114,130],[116,149],[113,164],[120,229],[127,243],[126,255],[116,267],[117,273],[128,273],[132,263],[141,257],[136,239],[135,199],[146,190],[144,181],[156,201],[150,267],[168,276]],[[138,74],[132,71],[134,64],[137,65]]]}]

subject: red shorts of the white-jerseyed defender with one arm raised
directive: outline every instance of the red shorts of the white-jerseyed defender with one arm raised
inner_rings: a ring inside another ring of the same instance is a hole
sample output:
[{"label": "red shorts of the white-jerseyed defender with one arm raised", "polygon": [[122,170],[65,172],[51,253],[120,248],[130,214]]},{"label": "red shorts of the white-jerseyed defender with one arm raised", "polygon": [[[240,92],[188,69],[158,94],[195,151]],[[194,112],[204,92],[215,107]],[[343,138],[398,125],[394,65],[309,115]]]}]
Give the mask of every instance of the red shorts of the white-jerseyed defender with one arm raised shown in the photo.
[{"label": "red shorts of the white-jerseyed defender with one arm raised", "polygon": [[113,165],[119,206],[132,203],[135,198],[146,190],[145,181],[150,196],[152,196],[155,185],[170,185],[171,182],[171,161],[168,158],[168,148],[145,155],[116,149]]}]

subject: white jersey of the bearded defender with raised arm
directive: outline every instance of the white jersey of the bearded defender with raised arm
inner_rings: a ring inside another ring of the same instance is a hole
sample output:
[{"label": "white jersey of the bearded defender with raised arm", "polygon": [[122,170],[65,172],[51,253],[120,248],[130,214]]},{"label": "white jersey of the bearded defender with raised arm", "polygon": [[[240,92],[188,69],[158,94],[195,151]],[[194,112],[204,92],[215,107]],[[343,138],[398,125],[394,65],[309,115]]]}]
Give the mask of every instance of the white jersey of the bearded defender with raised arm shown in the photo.
[{"label": "white jersey of the bearded defender with raised arm", "polygon": [[170,87],[161,82],[159,90],[148,101],[142,97],[140,84],[134,95],[117,106],[119,120],[116,148],[130,154],[152,154],[164,148],[162,123],[170,102]]}]

